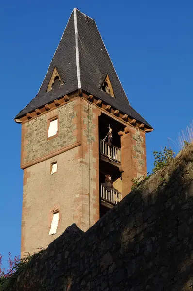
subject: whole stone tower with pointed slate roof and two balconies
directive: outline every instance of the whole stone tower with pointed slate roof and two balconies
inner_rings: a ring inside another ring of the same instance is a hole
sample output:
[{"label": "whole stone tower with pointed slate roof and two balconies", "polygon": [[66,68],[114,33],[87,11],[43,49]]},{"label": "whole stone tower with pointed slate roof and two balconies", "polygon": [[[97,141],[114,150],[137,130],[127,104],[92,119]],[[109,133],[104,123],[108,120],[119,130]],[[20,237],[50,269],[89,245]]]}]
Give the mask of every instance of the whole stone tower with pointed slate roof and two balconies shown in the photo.
[{"label": "whole stone tower with pointed slate roof and two balconies", "polygon": [[86,231],[146,173],[152,127],[129,104],[95,21],[73,10],[22,124],[21,255]]}]

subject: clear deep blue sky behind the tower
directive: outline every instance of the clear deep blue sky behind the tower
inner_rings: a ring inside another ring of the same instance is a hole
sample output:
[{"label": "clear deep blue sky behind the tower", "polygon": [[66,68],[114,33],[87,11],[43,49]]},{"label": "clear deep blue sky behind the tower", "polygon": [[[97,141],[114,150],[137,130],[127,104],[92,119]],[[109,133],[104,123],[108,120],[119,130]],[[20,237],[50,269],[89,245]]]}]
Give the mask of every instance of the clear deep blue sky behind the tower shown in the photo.
[{"label": "clear deep blue sky behind the tower", "polygon": [[[193,119],[193,1],[10,0],[0,4],[0,253],[20,253],[21,126],[13,118],[35,97],[74,7],[96,20],[130,104],[154,127],[154,150],[173,146]],[[174,147],[174,150],[176,148]],[[35,238],[34,238],[35,239]]]}]

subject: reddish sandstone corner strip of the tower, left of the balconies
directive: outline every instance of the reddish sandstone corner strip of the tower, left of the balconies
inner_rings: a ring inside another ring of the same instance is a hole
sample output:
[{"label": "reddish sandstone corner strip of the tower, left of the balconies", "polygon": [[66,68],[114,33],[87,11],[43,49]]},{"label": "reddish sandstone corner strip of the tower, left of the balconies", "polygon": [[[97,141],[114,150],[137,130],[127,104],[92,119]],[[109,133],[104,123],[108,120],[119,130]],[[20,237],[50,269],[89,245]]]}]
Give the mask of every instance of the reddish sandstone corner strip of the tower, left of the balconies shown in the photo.
[{"label": "reddish sandstone corner strip of the tower, left of the balconies", "polygon": [[74,222],[86,231],[99,219],[99,153],[98,153],[98,115],[96,106],[79,99],[77,114],[80,111],[81,146],[76,160],[81,164],[82,189],[76,193]]}]

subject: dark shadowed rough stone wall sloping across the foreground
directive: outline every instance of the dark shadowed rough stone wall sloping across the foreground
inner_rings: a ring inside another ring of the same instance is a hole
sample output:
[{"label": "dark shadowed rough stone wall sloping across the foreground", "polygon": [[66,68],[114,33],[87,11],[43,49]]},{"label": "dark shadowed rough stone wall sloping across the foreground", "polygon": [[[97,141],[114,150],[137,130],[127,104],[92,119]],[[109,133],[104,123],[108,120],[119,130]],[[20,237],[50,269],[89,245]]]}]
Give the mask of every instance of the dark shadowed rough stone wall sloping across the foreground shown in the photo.
[{"label": "dark shadowed rough stone wall sloping across the foreground", "polygon": [[192,291],[193,146],[64,244],[52,242],[10,291]]}]

